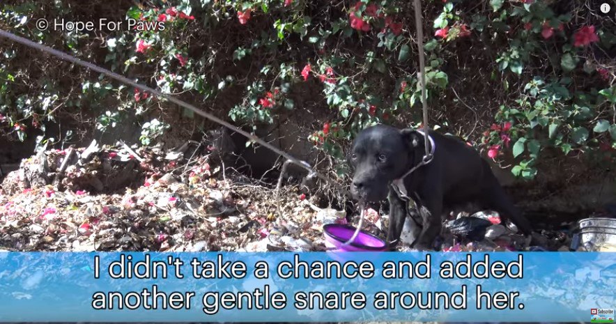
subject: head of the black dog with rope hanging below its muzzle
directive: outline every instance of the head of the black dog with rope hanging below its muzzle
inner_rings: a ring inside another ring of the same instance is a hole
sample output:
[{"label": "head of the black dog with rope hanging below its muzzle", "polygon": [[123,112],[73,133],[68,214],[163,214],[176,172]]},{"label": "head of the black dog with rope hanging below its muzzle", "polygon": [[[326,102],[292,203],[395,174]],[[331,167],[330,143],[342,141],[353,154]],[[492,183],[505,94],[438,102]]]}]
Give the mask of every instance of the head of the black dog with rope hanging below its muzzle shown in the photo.
[{"label": "head of the black dog with rope hanging below its muzzle", "polygon": [[411,167],[421,135],[415,130],[398,130],[376,125],[362,130],[348,154],[353,166],[351,193],[354,199],[382,201],[388,185]]}]

